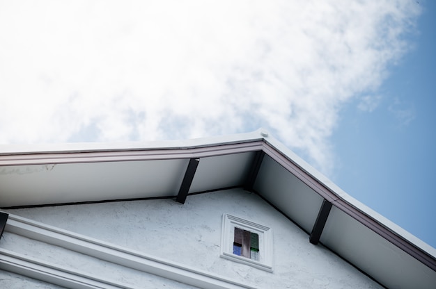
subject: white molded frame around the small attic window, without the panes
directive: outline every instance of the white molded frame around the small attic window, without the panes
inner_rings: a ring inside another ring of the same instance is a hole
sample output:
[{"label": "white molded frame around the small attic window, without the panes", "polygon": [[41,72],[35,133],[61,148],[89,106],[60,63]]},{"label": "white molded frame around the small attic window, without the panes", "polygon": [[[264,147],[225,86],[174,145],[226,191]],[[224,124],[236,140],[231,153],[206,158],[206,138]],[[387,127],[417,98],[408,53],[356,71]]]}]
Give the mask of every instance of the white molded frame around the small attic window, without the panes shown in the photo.
[{"label": "white molded frame around the small attic window, without the panes", "polygon": [[[233,254],[235,227],[258,234],[259,261]],[[221,257],[272,272],[272,229],[240,217],[224,214],[221,230]]]}]

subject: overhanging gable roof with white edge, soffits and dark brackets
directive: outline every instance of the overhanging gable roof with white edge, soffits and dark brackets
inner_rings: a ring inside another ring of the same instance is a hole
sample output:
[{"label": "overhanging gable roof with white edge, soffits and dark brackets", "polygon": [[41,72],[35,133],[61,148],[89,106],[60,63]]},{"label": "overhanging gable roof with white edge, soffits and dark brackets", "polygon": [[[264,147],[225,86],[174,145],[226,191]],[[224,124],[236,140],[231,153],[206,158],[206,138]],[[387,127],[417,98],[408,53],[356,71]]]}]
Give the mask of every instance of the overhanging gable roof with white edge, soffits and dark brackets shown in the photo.
[{"label": "overhanging gable roof with white edge, soffits and dark brackets", "polygon": [[0,207],[176,197],[242,187],[388,288],[431,288],[436,250],[259,129],[163,142],[0,147]]}]

